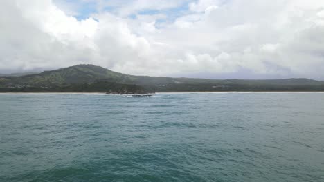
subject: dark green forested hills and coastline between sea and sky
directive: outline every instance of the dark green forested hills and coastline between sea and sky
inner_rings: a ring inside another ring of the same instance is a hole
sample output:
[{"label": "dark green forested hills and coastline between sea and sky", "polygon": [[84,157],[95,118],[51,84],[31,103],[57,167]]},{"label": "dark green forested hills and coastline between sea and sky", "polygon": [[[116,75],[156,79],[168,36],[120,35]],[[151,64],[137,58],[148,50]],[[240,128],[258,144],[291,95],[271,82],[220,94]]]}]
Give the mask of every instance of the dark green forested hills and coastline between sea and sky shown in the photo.
[{"label": "dark green forested hills and coastline between sea and sky", "polygon": [[[88,92],[103,92],[107,90],[107,92],[109,92],[109,87],[107,85],[119,88],[119,90],[114,90],[114,88],[112,88],[112,90],[110,89],[111,92],[121,92],[121,88],[124,89],[123,92],[127,92],[127,87],[129,86],[132,90],[137,90],[136,92],[141,93],[177,91],[324,90],[323,81],[312,79],[246,80],[148,77],[114,72],[96,65],[74,65],[68,68],[27,74],[19,77],[0,76],[0,92],[29,92],[28,90],[39,90],[39,92],[85,92],[85,90]],[[134,85],[136,85],[136,89],[134,89]],[[84,88],[84,90],[82,90],[82,88]]]}]

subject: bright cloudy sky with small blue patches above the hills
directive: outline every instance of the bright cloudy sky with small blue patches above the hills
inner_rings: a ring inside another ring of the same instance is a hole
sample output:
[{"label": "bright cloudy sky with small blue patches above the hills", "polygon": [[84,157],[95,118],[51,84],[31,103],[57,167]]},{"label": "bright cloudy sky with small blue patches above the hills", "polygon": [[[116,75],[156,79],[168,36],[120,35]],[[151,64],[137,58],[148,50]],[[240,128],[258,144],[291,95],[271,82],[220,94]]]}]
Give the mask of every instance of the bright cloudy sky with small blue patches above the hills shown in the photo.
[{"label": "bright cloudy sky with small blue patches above the hills", "polygon": [[321,0],[1,0],[0,72],[324,79]]}]

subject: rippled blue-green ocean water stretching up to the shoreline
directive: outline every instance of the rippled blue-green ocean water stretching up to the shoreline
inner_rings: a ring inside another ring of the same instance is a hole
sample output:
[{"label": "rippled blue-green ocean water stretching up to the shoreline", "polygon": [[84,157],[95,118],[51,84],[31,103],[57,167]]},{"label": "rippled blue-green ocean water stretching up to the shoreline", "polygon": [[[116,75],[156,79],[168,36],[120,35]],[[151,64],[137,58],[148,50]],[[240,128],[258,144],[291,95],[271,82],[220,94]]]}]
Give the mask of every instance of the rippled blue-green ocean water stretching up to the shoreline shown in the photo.
[{"label": "rippled blue-green ocean water stretching up to the shoreline", "polygon": [[0,94],[0,181],[324,181],[324,93]]}]

